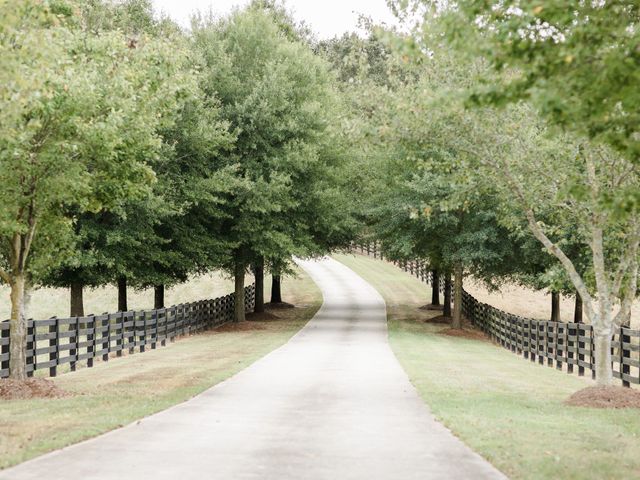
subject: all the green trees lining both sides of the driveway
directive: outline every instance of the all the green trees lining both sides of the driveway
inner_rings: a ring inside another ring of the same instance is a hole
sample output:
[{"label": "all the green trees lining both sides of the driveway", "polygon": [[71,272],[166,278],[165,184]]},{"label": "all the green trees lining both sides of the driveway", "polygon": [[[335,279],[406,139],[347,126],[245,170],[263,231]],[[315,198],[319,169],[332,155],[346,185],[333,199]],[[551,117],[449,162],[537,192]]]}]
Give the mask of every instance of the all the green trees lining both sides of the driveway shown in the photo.
[{"label": "all the green trees lining both sides of the driveway", "polygon": [[465,275],[575,295],[611,383],[638,290],[637,6],[390,4],[410,34],[322,42],[268,0],[188,34],[149,0],[1,4],[11,374],[38,285],[81,315],[85,287],[117,283],[126,310],[128,285],[153,286],[160,307],[222,269],[242,320],[247,272],[260,310],[265,271],[279,292],[292,256],[365,225],[445,277],[456,327]]}]

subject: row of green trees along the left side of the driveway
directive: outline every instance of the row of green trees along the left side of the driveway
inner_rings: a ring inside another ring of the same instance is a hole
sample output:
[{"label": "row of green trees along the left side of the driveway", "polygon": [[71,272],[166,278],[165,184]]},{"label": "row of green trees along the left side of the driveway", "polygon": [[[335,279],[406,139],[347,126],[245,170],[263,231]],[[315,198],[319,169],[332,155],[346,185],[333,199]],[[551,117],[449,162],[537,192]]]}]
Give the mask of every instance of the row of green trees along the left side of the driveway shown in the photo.
[{"label": "row of green trees along the left side of the driveway", "polygon": [[[287,11],[256,0],[189,34],[149,0],[0,5],[0,278],[10,374],[40,285],[164,288],[222,269],[244,283],[347,244],[345,110]],[[276,301],[279,298],[274,298]]]}]

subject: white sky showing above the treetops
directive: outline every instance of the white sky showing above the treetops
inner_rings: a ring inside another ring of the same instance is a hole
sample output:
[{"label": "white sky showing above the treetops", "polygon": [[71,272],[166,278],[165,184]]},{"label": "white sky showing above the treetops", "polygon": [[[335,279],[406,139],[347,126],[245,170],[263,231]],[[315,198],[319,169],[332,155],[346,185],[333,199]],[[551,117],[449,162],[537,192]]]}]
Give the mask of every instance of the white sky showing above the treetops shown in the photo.
[{"label": "white sky showing above the treetops", "polygon": [[[189,26],[189,17],[196,10],[225,14],[234,6],[249,0],[153,0],[157,11],[163,11],[181,25]],[[331,38],[347,31],[356,31],[360,14],[376,23],[396,24],[385,0],[287,0],[287,8],[298,20],[304,20],[320,38]]]}]

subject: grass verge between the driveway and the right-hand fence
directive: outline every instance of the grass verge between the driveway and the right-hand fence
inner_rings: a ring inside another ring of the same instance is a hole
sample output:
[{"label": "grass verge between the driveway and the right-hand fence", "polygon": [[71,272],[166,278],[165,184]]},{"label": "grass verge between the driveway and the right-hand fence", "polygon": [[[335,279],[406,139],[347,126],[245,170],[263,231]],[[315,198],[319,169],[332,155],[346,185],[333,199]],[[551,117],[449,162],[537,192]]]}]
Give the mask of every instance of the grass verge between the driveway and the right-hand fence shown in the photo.
[{"label": "grass verge between the driveway and the right-hand fence", "polygon": [[[398,360],[434,415],[514,479],[640,478],[640,411],[567,407],[590,380],[485,341],[439,335],[428,288],[386,262],[336,255],[387,301]],[[405,304],[402,306],[402,304]]]}]

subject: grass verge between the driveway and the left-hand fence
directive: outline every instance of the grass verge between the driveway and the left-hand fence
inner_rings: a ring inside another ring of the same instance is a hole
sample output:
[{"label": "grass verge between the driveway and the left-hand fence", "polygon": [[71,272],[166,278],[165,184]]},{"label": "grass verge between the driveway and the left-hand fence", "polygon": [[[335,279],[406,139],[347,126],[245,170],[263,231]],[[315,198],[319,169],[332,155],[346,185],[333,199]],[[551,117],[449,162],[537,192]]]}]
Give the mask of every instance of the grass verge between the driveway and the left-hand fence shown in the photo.
[{"label": "grass verge between the driveway and the left-hand fence", "polygon": [[[0,468],[94,437],[187,400],[284,344],[318,310],[306,275],[283,285],[301,308],[251,329],[223,327],[53,379],[70,398],[0,400]],[[1,381],[1,380],[0,380]]]}]

